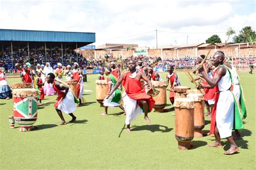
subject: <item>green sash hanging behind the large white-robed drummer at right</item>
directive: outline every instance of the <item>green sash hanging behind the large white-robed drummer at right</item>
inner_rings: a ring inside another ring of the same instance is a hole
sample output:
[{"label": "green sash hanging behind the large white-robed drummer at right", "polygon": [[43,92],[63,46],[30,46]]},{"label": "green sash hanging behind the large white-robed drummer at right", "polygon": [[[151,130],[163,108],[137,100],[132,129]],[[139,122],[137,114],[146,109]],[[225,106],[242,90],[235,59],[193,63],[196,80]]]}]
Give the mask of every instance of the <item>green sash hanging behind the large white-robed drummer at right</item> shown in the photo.
[{"label": "green sash hanging behind the large white-robed drummer at right", "polygon": [[[221,66],[223,66],[223,65],[221,65]],[[228,70],[228,73],[230,73],[231,84],[233,86],[233,77],[232,77],[231,70],[227,66],[224,66],[224,67]],[[233,98],[234,98],[234,124],[233,124],[233,129],[243,129],[244,124],[242,123],[243,116],[242,116],[240,104],[238,103],[237,98],[234,96],[233,91],[231,91],[231,93],[232,93]]]}]

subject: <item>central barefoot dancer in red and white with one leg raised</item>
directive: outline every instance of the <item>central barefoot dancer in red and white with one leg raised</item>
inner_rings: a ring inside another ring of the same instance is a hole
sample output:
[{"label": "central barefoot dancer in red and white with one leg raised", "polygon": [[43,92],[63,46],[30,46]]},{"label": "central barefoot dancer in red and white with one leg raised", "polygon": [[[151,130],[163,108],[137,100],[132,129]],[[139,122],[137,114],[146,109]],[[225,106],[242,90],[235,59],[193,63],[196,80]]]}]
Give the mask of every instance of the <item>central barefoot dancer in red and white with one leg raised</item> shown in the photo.
[{"label": "central barefoot dancer in red and white with one leg raised", "polygon": [[145,90],[142,89],[142,83],[140,82],[141,79],[144,79],[149,84],[150,88],[152,88],[150,80],[144,73],[136,71],[136,62],[134,60],[130,60],[128,66],[129,71],[123,72],[110,94],[106,96],[106,99],[109,98],[123,82],[125,88],[123,95],[124,110],[126,112],[125,124],[127,125],[126,131],[130,132],[131,122],[136,119],[137,115],[142,114],[143,111],[144,119],[147,123],[151,123],[147,113],[153,109],[155,102],[152,96],[145,93]]}]

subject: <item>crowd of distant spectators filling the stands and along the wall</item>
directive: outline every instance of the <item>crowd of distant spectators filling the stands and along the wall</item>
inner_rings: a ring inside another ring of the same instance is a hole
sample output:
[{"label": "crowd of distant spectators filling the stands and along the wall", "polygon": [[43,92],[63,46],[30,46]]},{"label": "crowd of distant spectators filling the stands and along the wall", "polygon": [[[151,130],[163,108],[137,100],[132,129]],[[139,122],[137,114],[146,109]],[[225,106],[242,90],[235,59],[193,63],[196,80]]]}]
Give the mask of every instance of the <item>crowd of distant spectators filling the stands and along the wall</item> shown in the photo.
[{"label": "crowd of distant spectators filling the stands and along the wall", "polygon": [[[11,59],[13,58],[14,69],[11,68]],[[211,57],[210,57],[211,58]],[[228,61],[233,62],[235,67],[248,67],[249,63],[256,63],[255,56],[243,56],[240,58],[235,58],[232,56],[226,57]],[[58,62],[62,63],[63,66],[73,65],[74,62],[78,61],[81,68],[85,69],[104,69],[110,61],[116,61],[117,66],[122,69],[127,68],[127,61],[129,60],[142,60],[144,66],[153,66],[158,68],[167,68],[168,65],[172,65],[177,69],[191,69],[196,65],[196,58],[191,58],[190,56],[184,56],[181,58],[167,58],[161,60],[160,57],[156,56],[130,56],[128,58],[122,59],[121,56],[117,58],[111,54],[106,54],[104,58],[100,59],[86,59],[82,55],[77,54],[73,50],[63,50],[60,48],[53,48],[52,50],[47,50],[45,54],[45,49],[30,49],[29,55],[27,49],[13,48],[13,53],[11,57],[10,48],[4,48],[4,52],[0,51],[0,67],[4,67],[7,72],[15,72],[17,68],[16,63],[22,66],[24,63],[29,62],[31,65],[36,66],[37,64],[45,64],[49,62],[51,66],[56,65]]]}]

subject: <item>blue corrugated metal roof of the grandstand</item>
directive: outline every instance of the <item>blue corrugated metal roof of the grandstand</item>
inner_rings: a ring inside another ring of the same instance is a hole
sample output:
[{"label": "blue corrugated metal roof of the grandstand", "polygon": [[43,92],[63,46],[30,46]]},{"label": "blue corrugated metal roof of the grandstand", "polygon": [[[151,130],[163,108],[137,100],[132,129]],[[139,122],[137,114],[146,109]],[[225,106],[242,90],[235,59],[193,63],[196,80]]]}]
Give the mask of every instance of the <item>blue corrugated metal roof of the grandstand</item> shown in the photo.
[{"label": "blue corrugated metal roof of the grandstand", "polygon": [[0,29],[0,41],[95,42],[92,32],[59,32]]}]

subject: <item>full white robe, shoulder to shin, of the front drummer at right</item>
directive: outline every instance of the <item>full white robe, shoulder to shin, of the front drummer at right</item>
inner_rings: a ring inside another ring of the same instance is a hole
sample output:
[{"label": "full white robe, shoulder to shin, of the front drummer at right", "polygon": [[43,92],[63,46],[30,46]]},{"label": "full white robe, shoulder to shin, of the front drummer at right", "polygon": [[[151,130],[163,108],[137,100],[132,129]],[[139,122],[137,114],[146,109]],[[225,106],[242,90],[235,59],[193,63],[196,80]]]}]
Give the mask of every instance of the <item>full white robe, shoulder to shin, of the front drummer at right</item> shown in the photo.
[{"label": "full white robe, shoulder to shin, of the front drummer at right", "polygon": [[232,92],[228,90],[231,87],[228,70],[226,70],[226,74],[218,82],[218,87],[221,92],[216,108],[216,125],[220,138],[227,138],[232,136],[234,122],[234,98]]}]

